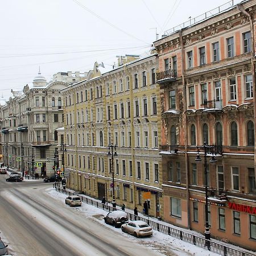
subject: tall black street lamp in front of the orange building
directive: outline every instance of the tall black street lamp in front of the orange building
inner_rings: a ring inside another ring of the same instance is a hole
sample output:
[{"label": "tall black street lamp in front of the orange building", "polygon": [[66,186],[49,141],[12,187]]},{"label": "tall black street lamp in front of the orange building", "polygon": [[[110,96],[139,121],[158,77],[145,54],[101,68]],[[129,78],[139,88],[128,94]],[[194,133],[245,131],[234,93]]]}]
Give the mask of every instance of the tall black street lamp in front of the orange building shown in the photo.
[{"label": "tall black street lamp in front of the orange building", "polygon": [[209,220],[208,220],[208,177],[207,177],[207,153],[211,152],[212,157],[210,158],[209,162],[214,163],[217,162],[216,160],[216,152],[214,152],[214,148],[216,146],[212,145],[207,145],[206,142],[204,142],[203,146],[197,146],[197,155],[196,155],[196,161],[201,161],[202,159],[200,158],[199,152],[200,148],[204,150],[204,183],[205,183],[205,246],[208,248],[210,247],[210,229],[209,229]]}]

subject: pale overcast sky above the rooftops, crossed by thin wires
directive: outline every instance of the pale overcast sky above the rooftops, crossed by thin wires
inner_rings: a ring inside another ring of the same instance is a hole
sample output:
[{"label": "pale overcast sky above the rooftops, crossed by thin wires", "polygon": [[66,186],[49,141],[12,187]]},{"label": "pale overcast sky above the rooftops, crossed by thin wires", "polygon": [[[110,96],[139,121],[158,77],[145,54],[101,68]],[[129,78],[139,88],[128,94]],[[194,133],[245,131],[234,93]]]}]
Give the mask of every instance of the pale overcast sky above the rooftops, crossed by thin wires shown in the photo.
[{"label": "pale overcast sky above the rooftops, crossed by thin wires", "polygon": [[[236,0],[239,2],[239,0]],[[22,90],[38,74],[85,72],[95,61],[147,54],[156,36],[225,0],[1,1],[0,97]]]}]

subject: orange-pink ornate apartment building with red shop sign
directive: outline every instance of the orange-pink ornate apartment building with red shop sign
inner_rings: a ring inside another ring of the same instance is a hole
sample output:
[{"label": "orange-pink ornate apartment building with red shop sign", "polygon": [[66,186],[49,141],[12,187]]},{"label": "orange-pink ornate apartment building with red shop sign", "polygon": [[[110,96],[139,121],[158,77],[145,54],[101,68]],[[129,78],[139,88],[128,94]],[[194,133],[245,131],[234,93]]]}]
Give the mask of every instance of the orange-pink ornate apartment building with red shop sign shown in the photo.
[{"label": "orange-pink ornate apartment building with red shop sign", "polygon": [[[256,247],[255,7],[245,1],[154,42],[164,220],[203,233],[207,212],[213,237],[248,249]],[[204,142],[217,163],[197,147]]]}]

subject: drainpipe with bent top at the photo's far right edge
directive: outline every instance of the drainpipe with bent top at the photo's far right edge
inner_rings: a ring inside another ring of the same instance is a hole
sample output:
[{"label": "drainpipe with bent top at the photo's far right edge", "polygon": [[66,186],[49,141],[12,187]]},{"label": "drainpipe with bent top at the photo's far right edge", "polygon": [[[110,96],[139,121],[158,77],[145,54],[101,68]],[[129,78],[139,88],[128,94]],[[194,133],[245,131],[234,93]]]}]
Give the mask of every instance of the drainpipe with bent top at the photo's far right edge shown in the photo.
[{"label": "drainpipe with bent top at the photo's far right edge", "polygon": [[253,24],[253,17],[247,13],[245,8],[241,5],[237,5],[237,9],[241,11],[241,13],[245,14],[250,21],[250,31],[251,31],[251,74],[253,76],[253,115],[254,115],[254,172],[256,176],[256,86],[255,86],[255,36],[254,36],[254,24]]}]

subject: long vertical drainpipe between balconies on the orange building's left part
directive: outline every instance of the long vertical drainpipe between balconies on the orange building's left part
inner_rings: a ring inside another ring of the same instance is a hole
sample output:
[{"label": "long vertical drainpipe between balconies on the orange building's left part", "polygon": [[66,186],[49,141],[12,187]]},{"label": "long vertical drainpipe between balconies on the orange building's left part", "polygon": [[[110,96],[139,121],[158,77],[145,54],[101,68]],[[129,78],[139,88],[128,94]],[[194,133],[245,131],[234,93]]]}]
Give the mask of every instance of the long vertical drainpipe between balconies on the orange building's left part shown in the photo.
[{"label": "long vertical drainpipe between balconies on the orange building's left part", "polygon": [[185,51],[184,51],[184,44],[182,40],[181,30],[179,30],[179,39],[180,39],[180,47],[181,47],[181,77],[182,77],[182,85],[183,85],[183,139],[184,139],[184,146],[185,146],[185,170],[186,170],[186,199],[187,199],[187,214],[188,214],[188,229],[191,229],[191,221],[190,221],[190,208],[189,208],[189,175],[188,175],[188,143],[187,143],[187,117],[185,116],[184,112],[187,109],[187,92],[185,86]]}]

